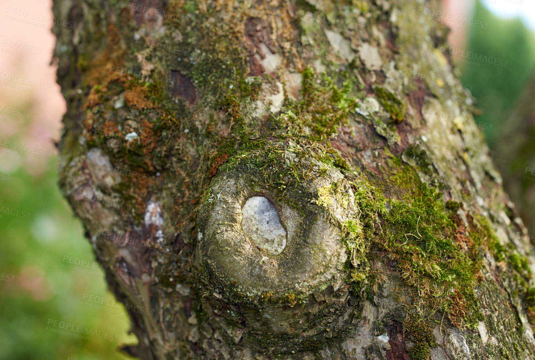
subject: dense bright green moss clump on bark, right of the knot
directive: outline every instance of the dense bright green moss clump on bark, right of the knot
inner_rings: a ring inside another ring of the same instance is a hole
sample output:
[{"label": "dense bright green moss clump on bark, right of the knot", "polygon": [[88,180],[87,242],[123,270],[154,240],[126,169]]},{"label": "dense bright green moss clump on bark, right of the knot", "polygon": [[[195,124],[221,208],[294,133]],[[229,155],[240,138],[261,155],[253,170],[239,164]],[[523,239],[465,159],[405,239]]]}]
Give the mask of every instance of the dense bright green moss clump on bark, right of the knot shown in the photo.
[{"label": "dense bright green moss clump on bark, right of the knot", "polygon": [[420,295],[430,296],[431,307],[445,311],[457,326],[474,325],[479,313],[473,284],[481,266],[480,243],[461,251],[441,191],[419,181],[416,171],[405,167],[393,179],[403,194],[401,200],[391,201],[380,245],[406,282]]}]

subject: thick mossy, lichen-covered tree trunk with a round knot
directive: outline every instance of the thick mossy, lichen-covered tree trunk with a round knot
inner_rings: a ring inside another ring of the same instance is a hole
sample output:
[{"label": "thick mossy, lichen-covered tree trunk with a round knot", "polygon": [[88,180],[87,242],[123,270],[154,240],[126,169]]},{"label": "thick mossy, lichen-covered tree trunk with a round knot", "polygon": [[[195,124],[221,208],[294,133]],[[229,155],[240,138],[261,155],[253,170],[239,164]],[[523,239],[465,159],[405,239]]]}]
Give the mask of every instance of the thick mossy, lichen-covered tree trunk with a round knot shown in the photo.
[{"label": "thick mossy, lichen-covered tree trunk with a round knot", "polygon": [[437,6],[55,0],[59,185],[150,309],[127,352],[535,358],[533,253]]}]

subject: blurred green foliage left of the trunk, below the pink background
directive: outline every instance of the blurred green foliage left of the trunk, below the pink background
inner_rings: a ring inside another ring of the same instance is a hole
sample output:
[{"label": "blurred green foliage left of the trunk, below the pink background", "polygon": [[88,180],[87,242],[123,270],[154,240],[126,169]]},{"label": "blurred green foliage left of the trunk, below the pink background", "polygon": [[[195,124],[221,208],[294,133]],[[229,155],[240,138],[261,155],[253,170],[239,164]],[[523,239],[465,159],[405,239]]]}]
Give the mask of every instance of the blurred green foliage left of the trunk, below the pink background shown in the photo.
[{"label": "blurred green foliage left of the trunk, below the pink background", "polygon": [[[95,257],[56,185],[57,157],[43,157],[47,160],[47,172],[41,176],[21,168],[9,181],[0,180],[0,359],[126,360],[129,357],[117,348],[137,340],[127,335],[125,312],[113,313],[118,309],[111,306],[93,309],[87,306],[87,296],[83,299],[84,294],[115,299],[106,288],[104,272],[99,268],[98,276],[65,267],[73,265],[71,257],[87,260],[89,266]],[[7,207],[20,210],[19,216],[29,212],[29,219],[5,213]],[[69,260],[64,261],[65,256]],[[54,328],[49,319],[118,335],[118,341],[47,331]]]}]

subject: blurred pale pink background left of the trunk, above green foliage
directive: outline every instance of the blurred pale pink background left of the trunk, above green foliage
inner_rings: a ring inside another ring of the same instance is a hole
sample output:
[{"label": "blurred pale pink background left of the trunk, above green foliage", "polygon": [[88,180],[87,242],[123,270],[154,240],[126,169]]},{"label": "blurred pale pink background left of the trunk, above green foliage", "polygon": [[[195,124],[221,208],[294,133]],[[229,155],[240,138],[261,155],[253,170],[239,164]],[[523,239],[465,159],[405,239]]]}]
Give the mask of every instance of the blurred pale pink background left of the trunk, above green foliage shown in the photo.
[{"label": "blurred pale pink background left of the trunk, above green foliage", "polygon": [[[24,167],[29,174],[37,176],[46,170],[48,158],[57,154],[51,139],[60,137],[66,109],[63,95],[46,88],[27,86],[33,87],[30,92],[5,85],[7,74],[28,77],[41,84],[56,84],[56,66],[51,65],[56,41],[50,30],[51,6],[50,0],[4,0],[0,5],[0,139],[2,144],[9,139],[46,151],[46,156],[24,151],[17,151],[18,155],[0,152],[0,171],[12,173]],[[26,117],[8,115],[2,110],[4,106],[25,110]]]}]

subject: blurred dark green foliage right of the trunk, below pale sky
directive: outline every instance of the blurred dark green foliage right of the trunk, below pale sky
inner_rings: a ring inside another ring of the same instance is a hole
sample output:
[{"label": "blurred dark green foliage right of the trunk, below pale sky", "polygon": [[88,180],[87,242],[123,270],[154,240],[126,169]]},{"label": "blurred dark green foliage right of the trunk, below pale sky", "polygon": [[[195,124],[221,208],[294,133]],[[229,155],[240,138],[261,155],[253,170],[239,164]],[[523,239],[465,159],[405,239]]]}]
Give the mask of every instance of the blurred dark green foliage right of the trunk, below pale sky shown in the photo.
[{"label": "blurred dark green foliage right of the trunk, below pale sky", "polygon": [[480,66],[460,65],[461,82],[473,86],[476,106],[483,110],[476,121],[493,124],[493,130],[485,131],[492,147],[500,136],[500,125],[535,68],[535,34],[518,18],[494,16],[479,1],[472,18],[488,22],[488,28],[468,27],[467,50],[508,61],[507,68],[485,62],[480,62]]}]

